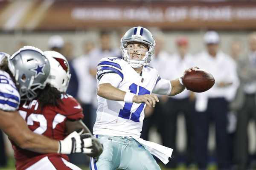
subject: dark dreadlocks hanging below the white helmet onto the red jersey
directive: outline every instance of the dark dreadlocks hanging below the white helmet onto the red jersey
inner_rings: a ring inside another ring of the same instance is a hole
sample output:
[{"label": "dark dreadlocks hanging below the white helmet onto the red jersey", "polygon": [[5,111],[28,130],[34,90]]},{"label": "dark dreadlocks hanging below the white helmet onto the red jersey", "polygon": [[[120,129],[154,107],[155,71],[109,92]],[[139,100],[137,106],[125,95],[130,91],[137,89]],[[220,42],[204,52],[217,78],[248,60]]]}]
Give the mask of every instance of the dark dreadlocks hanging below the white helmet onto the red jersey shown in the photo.
[{"label": "dark dreadlocks hanging below the white helmet onto the red jersey", "polygon": [[49,83],[46,84],[44,89],[38,89],[38,103],[40,108],[43,109],[45,106],[56,106],[60,107],[62,92],[58,91],[57,88],[52,87]]}]

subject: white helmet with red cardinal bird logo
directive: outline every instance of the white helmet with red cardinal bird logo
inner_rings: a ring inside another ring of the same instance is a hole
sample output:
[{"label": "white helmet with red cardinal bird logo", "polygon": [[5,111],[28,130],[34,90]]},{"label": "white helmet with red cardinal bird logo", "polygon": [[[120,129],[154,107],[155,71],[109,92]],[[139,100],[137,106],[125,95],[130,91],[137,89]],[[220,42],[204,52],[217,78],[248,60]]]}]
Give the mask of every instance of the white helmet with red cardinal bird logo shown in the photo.
[{"label": "white helmet with red cardinal bird logo", "polygon": [[58,91],[66,92],[71,77],[67,59],[56,51],[44,51],[44,54],[51,65],[51,71],[46,82],[57,88]]}]

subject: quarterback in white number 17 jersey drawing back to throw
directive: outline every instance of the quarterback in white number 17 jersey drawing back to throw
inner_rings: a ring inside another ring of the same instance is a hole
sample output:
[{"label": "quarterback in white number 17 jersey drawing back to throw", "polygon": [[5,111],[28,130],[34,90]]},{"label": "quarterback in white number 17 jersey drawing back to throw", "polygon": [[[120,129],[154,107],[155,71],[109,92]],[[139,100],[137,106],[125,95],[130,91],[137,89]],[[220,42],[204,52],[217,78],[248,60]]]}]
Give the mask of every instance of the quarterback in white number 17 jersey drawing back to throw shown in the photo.
[{"label": "quarterback in white number 17 jersey drawing back to throw", "polygon": [[123,59],[106,57],[99,61],[93,135],[105,149],[99,161],[93,163],[91,159],[91,170],[160,170],[151,154],[165,164],[171,157],[171,148],[140,139],[145,105],[154,107],[159,102],[154,94],[173,96],[185,89],[179,78],[161,79],[157,70],[148,66],[154,46],[150,31],[134,27],[121,39]]}]

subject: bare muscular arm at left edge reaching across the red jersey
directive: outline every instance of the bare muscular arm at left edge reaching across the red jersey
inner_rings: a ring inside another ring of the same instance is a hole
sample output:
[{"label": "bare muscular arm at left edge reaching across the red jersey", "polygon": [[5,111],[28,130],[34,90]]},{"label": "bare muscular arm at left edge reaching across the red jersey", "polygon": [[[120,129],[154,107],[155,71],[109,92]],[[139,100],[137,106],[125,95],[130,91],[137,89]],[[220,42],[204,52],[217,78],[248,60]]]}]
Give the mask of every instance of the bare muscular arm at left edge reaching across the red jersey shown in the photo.
[{"label": "bare muscular arm at left edge reaching across the red jersey", "polygon": [[19,147],[38,153],[57,153],[59,143],[29,130],[18,111],[0,110],[0,128]]}]

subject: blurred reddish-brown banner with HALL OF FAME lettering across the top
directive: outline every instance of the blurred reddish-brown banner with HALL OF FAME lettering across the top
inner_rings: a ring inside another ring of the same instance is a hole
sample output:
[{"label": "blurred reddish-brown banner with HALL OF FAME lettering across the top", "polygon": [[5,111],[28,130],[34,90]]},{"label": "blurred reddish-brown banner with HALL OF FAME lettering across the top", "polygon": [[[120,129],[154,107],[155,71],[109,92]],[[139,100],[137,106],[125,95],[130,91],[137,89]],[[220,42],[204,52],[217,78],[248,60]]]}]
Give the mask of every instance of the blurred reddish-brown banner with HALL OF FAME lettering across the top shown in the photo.
[{"label": "blurred reddish-brown banner with HALL OF FAME lettering across the top", "polygon": [[76,30],[124,26],[253,30],[256,29],[256,3],[114,0],[0,3],[2,30]]}]

